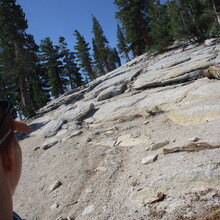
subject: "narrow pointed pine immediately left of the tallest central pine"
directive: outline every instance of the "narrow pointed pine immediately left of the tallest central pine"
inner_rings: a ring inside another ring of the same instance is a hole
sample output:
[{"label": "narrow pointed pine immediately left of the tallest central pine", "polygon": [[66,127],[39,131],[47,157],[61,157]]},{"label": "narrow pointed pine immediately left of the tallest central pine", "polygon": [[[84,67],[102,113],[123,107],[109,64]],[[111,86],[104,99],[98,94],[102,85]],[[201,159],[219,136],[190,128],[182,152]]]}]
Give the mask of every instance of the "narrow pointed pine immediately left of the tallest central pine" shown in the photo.
[{"label": "narrow pointed pine immediately left of the tallest central pine", "polygon": [[89,43],[85,41],[85,38],[79,33],[79,31],[75,30],[74,35],[76,37],[76,44],[74,47],[77,58],[76,61],[79,62],[79,67],[84,74],[88,75],[91,80],[94,80],[96,75],[93,71],[92,59],[89,53]]}]

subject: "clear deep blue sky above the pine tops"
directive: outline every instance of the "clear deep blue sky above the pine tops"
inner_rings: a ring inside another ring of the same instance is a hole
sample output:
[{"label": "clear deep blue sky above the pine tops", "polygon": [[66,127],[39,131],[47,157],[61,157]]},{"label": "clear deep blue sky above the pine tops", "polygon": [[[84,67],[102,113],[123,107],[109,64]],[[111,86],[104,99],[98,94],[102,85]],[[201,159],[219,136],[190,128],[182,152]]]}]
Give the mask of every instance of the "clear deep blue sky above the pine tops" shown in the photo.
[{"label": "clear deep blue sky above the pine tops", "polygon": [[34,36],[37,44],[45,37],[50,37],[57,45],[59,37],[63,36],[71,50],[75,44],[75,29],[92,46],[92,14],[100,22],[110,46],[116,46],[117,8],[113,2],[114,0],[17,0],[28,20],[27,32]]}]

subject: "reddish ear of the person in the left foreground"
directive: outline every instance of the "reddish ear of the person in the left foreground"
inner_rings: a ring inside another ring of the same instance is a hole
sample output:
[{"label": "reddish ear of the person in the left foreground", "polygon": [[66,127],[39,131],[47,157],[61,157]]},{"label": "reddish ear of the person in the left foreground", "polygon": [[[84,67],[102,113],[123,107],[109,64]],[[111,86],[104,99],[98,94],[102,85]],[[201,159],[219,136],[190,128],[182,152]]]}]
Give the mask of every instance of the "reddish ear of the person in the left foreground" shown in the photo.
[{"label": "reddish ear of the person in the left foreground", "polygon": [[14,169],[14,147],[12,141],[4,149],[2,156],[3,165],[6,171],[11,172]]}]

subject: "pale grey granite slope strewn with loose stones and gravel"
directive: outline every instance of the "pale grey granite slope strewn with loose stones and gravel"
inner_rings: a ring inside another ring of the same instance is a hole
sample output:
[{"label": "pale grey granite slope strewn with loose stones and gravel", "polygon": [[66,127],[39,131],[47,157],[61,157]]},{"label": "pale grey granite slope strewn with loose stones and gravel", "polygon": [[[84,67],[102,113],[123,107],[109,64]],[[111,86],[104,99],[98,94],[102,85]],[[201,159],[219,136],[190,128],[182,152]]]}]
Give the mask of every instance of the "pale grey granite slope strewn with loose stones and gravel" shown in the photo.
[{"label": "pale grey granite slope strewn with loose stones and gravel", "polygon": [[26,220],[220,219],[220,73],[203,75],[218,65],[213,40],[145,54],[48,103],[20,140],[15,211]]}]

